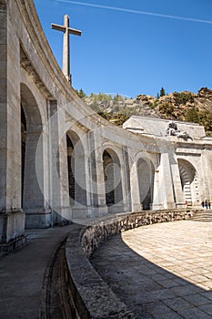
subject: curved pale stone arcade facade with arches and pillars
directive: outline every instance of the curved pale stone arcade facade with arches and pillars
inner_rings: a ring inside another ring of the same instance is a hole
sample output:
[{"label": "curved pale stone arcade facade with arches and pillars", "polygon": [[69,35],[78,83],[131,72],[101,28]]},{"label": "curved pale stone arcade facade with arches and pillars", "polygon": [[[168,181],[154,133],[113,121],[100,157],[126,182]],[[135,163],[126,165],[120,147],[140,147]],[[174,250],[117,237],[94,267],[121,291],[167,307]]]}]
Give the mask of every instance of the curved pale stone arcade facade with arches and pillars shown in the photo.
[{"label": "curved pale stone arcade facade with arches and pillars", "polygon": [[[212,140],[166,120],[118,129],[76,96],[32,0],[0,0],[0,242],[26,228],[211,199]],[[136,134],[135,134],[136,133]]]}]

